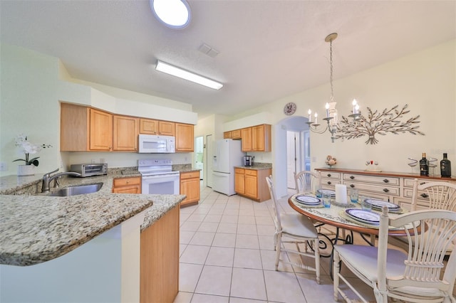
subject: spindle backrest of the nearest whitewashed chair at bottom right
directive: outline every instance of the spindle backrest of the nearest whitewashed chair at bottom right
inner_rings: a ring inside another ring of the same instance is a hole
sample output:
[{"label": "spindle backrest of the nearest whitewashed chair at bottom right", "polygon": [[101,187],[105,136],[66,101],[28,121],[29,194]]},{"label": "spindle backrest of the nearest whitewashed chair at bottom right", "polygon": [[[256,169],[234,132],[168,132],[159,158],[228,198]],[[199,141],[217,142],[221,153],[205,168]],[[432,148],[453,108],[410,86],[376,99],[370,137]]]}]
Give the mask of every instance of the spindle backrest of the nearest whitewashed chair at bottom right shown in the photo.
[{"label": "spindle backrest of the nearest whitewashed chair at bottom right", "polygon": [[[409,248],[403,275],[386,277],[386,252],[388,228],[403,228],[407,233]],[[426,232],[424,232],[426,230]],[[437,288],[452,293],[456,275],[456,252],[452,250],[444,269],[445,252],[456,238],[456,213],[445,210],[411,211],[397,218],[388,218],[383,208],[378,235],[378,287],[380,292],[388,287]],[[445,274],[440,278],[440,273]]]}]

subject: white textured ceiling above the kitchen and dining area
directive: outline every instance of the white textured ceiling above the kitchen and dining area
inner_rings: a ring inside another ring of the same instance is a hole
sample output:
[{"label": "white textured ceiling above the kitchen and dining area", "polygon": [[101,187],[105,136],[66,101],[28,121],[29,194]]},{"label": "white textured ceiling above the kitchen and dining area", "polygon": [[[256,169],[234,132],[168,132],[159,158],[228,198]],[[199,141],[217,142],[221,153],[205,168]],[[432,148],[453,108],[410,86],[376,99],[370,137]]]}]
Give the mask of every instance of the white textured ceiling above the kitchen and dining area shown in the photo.
[{"label": "white textured ceiling above the kitchen and dining area", "polygon": [[[147,0],[0,0],[1,41],[61,58],[73,78],[236,115],[456,38],[456,1],[188,0],[166,28]],[[202,43],[219,51],[201,53]],[[211,90],[154,70],[163,60],[224,83]]]}]

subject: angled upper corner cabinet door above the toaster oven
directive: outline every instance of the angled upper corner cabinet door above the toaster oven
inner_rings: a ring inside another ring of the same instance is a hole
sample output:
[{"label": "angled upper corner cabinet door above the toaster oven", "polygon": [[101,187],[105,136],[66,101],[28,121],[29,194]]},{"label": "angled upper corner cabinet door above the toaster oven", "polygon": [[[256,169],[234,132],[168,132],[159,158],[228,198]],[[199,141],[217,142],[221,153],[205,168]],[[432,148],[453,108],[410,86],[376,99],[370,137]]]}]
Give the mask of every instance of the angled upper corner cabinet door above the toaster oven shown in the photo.
[{"label": "angled upper corner cabinet door above the toaster oven", "polygon": [[113,149],[113,115],[90,108],[90,150]]}]

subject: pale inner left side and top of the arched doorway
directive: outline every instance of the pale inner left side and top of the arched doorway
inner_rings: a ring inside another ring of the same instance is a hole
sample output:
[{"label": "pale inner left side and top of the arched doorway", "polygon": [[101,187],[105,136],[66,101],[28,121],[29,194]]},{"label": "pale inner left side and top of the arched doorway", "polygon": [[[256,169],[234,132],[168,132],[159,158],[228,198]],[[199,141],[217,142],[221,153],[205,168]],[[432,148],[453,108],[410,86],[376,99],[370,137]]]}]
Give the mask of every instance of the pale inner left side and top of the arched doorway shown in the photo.
[{"label": "pale inner left side and top of the arched doorway", "polygon": [[288,194],[287,190],[287,131],[304,132],[309,130],[309,119],[302,116],[286,117],[274,125],[274,186],[278,197]]}]

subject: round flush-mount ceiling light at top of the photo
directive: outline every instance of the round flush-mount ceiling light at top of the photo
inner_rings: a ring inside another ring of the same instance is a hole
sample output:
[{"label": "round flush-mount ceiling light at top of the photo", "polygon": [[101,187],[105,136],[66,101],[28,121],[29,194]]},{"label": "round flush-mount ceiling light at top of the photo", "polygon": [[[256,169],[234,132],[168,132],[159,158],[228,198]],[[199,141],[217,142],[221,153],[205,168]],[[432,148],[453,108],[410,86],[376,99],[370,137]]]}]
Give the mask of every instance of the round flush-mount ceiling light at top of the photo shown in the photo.
[{"label": "round flush-mount ceiling light at top of the photo", "polygon": [[185,0],[150,0],[150,9],[169,28],[185,28],[190,23],[190,6]]}]

